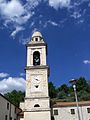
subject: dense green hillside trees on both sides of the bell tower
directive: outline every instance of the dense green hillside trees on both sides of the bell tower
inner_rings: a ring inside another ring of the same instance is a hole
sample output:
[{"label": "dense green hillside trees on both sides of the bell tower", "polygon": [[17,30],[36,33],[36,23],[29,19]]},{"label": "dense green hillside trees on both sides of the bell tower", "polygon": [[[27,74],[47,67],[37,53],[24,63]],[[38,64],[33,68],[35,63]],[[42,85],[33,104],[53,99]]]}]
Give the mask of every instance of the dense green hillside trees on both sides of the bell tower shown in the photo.
[{"label": "dense green hillside trees on both sides of the bell tower", "polygon": [[[77,95],[79,101],[90,100],[90,81],[80,77],[76,83]],[[13,104],[19,106],[19,103],[24,101],[25,93],[13,90],[11,93],[4,95]],[[52,82],[49,82],[49,96],[51,99],[59,101],[75,101],[74,91],[72,85],[63,84],[56,88]]]}]

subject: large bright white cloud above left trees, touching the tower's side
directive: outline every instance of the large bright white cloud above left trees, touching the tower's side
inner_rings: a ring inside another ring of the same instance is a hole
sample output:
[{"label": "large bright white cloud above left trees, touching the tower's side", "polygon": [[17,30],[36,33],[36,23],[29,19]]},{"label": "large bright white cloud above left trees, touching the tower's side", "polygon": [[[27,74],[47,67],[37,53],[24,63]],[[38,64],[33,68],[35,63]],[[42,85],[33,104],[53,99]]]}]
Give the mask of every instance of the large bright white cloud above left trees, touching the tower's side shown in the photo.
[{"label": "large bright white cloud above left trees, touching the tower's side", "polygon": [[26,81],[22,77],[8,77],[7,79],[3,79],[0,81],[0,93],[4,94],[7,92],[11,92],[12,90],[25,91],[25,84]]}]

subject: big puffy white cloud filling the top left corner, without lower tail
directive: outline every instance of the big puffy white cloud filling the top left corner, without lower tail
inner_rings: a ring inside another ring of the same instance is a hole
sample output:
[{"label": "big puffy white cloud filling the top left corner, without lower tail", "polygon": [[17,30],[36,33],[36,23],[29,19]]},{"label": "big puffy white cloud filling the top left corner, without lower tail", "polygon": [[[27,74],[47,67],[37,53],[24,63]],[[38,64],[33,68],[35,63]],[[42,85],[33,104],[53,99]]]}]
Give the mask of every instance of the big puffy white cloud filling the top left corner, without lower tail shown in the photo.
[{"label": "big puffy white cloud filling the top left corner, without lower tail", "polygon": [[33,2],[29,1],[25,5],[23,5],[20,0],[11,0],[9,2],[2,0],[0,1],[0,14],[5,21],[8,20],[8,22],[15,22],[19,25],[22,25],[26,23],[29,18],[34,14],[34,12],[31,12],[29,8],[32,8],[32,6],[36,6],[36,3],[38,3],[38,1],[32,1]]}]

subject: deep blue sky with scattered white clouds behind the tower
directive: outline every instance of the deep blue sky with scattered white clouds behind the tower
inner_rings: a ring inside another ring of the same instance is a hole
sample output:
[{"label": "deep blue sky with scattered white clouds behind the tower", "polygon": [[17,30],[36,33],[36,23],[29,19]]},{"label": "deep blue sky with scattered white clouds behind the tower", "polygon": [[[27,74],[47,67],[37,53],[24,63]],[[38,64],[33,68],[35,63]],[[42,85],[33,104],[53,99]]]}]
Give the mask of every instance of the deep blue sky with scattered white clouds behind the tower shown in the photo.
[{"label": "deep blue sky with scattered white clouds behind the tower", "polygon": [[90,0],[0,0],[0,93],[25,90],[32,33],[48,45],[49,81],[90,80]]}]

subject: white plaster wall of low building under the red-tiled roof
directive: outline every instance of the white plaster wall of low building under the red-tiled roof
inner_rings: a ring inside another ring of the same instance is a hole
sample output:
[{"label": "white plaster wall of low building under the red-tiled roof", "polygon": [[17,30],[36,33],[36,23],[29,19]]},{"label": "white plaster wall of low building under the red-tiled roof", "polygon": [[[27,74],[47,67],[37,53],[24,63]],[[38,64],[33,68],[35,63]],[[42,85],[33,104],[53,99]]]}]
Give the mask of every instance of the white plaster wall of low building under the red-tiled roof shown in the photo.
[{"label": "white plaster wall of low building under the red-tiled roof", "polygon": [[[90,106],[79,107],[81,120],[90,120],[90,113],[87,112],[87,108],[90,108]],[[58,115],[54,115],[55,120],[78,120],[77,108],[75,106],[53,108],[53,114],[54,110],[57,109]],[[71,114],[71,109],[75,109],[75,114]]]}]

